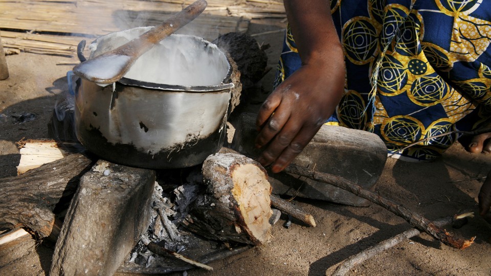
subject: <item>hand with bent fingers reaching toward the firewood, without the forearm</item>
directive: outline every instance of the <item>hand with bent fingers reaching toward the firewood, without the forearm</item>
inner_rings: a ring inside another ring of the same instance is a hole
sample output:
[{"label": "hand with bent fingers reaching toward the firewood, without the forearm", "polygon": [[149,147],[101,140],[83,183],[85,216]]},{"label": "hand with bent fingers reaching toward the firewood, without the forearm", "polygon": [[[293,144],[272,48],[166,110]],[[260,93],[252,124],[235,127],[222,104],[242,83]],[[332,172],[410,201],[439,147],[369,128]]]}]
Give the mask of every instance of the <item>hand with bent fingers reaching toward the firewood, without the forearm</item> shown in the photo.
[{"label": "hand with bent fingers reaching toward the firewood, without the forearm", "polygon": [[341,62],[334,58],[325,66],[322,62],[302,65],[261,106],[256,147],[264,148],[258,158],[263,166],[282,171],[336,110],[345,81],[340,58]]}]

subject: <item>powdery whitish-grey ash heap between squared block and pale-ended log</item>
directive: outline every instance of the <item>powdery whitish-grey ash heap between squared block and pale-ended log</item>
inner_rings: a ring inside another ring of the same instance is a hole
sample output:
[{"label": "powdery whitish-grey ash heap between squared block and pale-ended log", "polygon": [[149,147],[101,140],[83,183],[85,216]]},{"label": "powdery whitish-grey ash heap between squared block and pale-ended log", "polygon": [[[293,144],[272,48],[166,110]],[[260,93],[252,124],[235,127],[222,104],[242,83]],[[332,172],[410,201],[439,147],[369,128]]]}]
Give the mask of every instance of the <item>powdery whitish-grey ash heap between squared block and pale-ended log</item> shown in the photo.
[{"label": "powdery whitish-grey ash heap between squared block and pale-ended log", "polygon": [[[187,175],[180,175],[177,178],[173,178],[172,175],[166,176],[165,180],[159,180],[160,184],[155,182],[149,228],[142,235],[137,246],[133,248],[123,263],[123,267],[136,269],[136,271],[145,268],[169,268],[172,270],[183,267],[181,261],[153,254],[145,245],[150,242],[174,252],[181,252],[186,257],[195,260],[225,248],[221,242],[200,238],[180,228],[182,227],[180,222],[182,218],[188,215],[193,201],[196,198],[197,200],[207,200],[203,196],[205,185],[200,168],[187,172]],[[172,182],[181,181],[181,186],[172,185]],[[167,227],[171,227],[174,237],[169,235],[169,229],[166,228],[164,220],[167,220]]]}]

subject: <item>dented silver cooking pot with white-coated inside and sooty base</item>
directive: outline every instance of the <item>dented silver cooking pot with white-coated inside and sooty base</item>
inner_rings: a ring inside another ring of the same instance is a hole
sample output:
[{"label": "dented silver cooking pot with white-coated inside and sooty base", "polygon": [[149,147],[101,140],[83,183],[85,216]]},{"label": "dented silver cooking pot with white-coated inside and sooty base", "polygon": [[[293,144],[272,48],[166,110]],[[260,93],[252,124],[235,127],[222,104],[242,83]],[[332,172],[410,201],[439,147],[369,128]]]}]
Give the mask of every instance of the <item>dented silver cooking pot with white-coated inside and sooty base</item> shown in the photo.
[{"label": "dented silver cooking pot with white-coated inside and sooty base", "polygon": [[[99,37],[89,46],[89,58],[149,28]],[[76,83],[77,138],[91,152],[127,166],[167,169],[200,164],[225,140],[231,70],[215,44],[173,34],[113,84],[101,86],[71,74],[70,82]]]}]

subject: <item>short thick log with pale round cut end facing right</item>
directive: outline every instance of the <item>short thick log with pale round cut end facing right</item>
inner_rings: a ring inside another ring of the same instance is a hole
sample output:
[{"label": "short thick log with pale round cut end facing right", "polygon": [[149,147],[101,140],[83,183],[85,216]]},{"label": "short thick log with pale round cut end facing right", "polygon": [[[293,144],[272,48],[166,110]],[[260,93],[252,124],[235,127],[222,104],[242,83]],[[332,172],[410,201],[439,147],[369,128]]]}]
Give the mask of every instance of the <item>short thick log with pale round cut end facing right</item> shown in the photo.
[{"label": "short thick log with pale round cut end facing right", "polygon": [[203,164],[206,192],[199,195],[183,224],[213,240],[265,244],[271,238],[271,185],[251,158],[226,153]]}]

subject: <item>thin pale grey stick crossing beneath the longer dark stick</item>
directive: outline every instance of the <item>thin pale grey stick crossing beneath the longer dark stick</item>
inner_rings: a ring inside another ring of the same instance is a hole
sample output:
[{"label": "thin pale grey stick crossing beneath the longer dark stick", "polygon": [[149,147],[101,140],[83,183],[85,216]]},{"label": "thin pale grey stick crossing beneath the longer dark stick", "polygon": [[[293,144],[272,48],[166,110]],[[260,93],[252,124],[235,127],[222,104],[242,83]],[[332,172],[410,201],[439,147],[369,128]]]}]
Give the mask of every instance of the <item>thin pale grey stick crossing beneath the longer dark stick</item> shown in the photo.
[{"label": "thin pale grey stick crossing beneath the longer dark stick", "polygon": [[[464,215],[468,215],[468,214],[464,214]],[[438,227],[441,227],[443,225],[447,225],[450,223],[453,224],[456,222],[460,222],[462,220],[463,219],[459,218],[459,216],[453,216],[453,217],[446,217],[446,218],[441,218],[441,219],[435,220],[435,221],[433,221],[433,223],[435,225],[437,225]],[[371,246],[371,247],[363,250],[359,254],[351,256],[350,258],[345,260],[342,264],[340,264],[338,266],[338,268],[336,268],[336,270],[334,270],[334,272],[332,272],[331,276],[344,276],[346,273],[348,273],[348,271],[351,268],[353,268],[353,266],[359,265],[359,264],[363,263],[364,261],[372,258],[373,256],[375,256],[375,255],[377,255],[377,254],[379,254],[379,253],[381,253],[381,252],[383,252],[389,248],[392,248],[395,245],[397,245],[397,244],[399,244],[405,240],[409,240],[412,237],[415,237],[419,234],[421,234],[421,232],[418,229],[412,228],[412,229],[409,229],[409,230],[407,230],[401,234],[398,234],[398,235],[396,235],[390,239],[382,241],[382,242],[378,243],[377,245]]]}]

